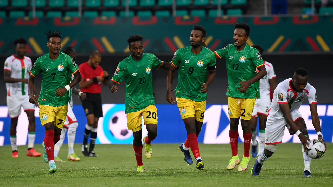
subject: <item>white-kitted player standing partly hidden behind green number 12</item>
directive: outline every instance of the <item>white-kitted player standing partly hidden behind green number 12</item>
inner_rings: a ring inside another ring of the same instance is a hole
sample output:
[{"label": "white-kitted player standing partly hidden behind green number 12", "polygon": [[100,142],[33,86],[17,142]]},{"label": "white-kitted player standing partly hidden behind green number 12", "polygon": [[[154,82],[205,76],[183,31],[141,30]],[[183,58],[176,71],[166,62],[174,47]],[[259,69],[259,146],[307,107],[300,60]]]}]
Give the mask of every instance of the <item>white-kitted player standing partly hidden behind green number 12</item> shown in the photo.
[{"label": "white-kitted player standing partly hidden behind green number 12", "polygon": [[[254,45],[252,46],[256,48],[260,55],[262,56],[262,53],[264,49],[260,45]],[[266,120],[268,116],[268,108],[271,103],[270,100],[270,91],[269,89],[272,89],[272,92],[274,92],[274,89],[276,87],[275,84],[275,72],[273,65],[267,61],[264,61],[265,68],[267,75],[265,75],[262,79],[260,79],[259,82],[259,96],[255,101],[255,105],[252,112],[252,118],[251,118],[251,131],[252,131],[252,149],[251,154],[252,157],[255,158],[257,156],[257,148],[259,147],[259,150],[262,150],[265,148],[265,127],[266,127]],[[259,117],[259,142],[257,141],[257,119]]]}]

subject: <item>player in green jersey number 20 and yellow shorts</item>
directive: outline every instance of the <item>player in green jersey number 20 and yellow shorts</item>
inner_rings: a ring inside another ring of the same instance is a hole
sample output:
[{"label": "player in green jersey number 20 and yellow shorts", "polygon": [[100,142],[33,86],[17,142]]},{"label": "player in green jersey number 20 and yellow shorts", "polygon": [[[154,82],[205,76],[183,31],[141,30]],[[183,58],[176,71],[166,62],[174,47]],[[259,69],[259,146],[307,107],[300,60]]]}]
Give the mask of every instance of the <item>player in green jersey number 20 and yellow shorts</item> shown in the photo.
[{"label": "player in green jersey number 20 and yellow shorts", "polygon": [[123,80],[126,81],[125,113],[127,113],[128,129],[133,131],[133,148],[137,160],[137,172],[144,172],[142,163],[142,117],[144,118],[148,136],[143,138],[145,143],[145,156],[152,156],[151,142],[157,136],[157,108],[153,93],[152,68],[169,69],[169,62],[159,60],[154,54],[143,53],[143,37],[131,36],[127,42],[132,55],[122,60],[109,82],[112,93],[116,93]]}]

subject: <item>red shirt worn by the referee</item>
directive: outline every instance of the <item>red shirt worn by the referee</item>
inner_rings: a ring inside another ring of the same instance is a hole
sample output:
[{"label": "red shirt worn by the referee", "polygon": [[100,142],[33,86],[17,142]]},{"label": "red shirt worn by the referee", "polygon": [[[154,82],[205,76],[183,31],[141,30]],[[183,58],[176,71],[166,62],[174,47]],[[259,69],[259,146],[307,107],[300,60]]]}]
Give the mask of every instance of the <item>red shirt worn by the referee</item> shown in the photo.
[{"label": "red shirt worn by the referee", "polygon": [[[94,77],[101,76],[103,68],[97,65],[96,69],[89,66],[88,62],[85,62],[79,66],[82,79],[84,81],[92,80]],[[93,83],[86,88],[82,88],[81,92],[90,94],[100,94],[102,92],[102,82]]]}]

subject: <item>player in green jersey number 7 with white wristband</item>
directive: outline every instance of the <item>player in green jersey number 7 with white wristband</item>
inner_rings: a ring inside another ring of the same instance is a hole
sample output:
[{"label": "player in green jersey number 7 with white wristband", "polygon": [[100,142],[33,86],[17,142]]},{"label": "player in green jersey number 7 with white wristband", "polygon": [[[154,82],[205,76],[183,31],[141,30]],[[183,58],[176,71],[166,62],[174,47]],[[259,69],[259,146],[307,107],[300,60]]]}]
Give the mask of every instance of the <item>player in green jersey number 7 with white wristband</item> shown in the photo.
[{"label": "player in green jersey number 7 with white wristband", "polygon": [[[60,139],[70,99],[70,88],[81,81],[81,74],[75,61],[65,53],[60,52],[61,33],[50,31],[47,34],[46,46],[49,53],[39,57],[28,79],[29,101],[37,103],[42,126],[45,127],[44,161],[50,164],[50,173],[57,172],[54,162],[54,144]],[[35,77],[42,74],[43,81],[39,98],[32,93]],[[72,80],[72,74],[74,79]],[[72,81],[71,81],[72,80]]]}]

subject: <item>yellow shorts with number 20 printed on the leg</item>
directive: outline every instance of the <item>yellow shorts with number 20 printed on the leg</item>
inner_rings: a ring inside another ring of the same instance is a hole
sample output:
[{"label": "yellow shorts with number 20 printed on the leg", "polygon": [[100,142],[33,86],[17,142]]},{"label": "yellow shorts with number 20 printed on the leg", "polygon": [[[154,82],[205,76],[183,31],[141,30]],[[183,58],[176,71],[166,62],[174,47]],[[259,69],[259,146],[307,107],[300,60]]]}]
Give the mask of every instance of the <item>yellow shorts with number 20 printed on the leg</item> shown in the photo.
[{"label": "yellow shorts with number 20 printed on the leg", "polygon": [[156,124],[157,125],[157,108],[155,105],[149,105],[146,108],[127,113],[127,127],[133,132],[139,131],[142,129],[142,117],[144,117],[144,125],[146,124]]}]

